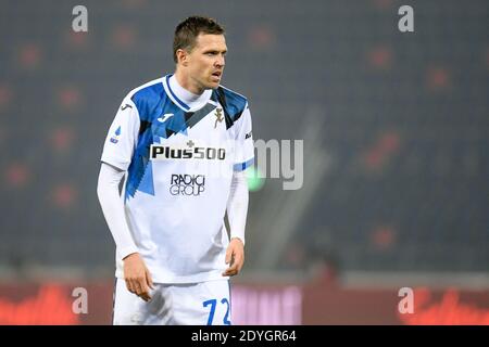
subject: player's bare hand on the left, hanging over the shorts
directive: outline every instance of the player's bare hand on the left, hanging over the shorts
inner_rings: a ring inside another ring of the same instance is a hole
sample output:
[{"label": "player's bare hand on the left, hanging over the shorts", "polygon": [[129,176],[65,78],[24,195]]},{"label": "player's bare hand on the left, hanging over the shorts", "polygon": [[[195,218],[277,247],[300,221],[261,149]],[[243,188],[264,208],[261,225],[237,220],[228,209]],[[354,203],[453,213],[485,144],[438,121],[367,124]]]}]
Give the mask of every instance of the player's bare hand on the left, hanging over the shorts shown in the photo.
[{"label": "player's bare hand on the left, hanging over the shorts", "polygon": [[128,255],[123,261],[127,290],[145,301],[151,300],[150,288],[153,290],[153,280],[139,253]]}]

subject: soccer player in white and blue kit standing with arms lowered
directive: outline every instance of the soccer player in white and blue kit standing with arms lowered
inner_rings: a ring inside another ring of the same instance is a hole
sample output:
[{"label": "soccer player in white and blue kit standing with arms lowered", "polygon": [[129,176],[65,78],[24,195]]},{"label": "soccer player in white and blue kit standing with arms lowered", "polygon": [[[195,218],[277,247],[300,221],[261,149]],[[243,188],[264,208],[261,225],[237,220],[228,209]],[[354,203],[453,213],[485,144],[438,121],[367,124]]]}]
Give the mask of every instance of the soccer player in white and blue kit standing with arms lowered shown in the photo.
[{"label": "soccer player in white and blue kit standing with arms lowered", "polygon": [[218,23],[188,17],[175,73],[131,90],[109,129],[97,193],[116,244],[114,324],[230,324],[254,151],[247,99],[220,85],[226,51]]}]

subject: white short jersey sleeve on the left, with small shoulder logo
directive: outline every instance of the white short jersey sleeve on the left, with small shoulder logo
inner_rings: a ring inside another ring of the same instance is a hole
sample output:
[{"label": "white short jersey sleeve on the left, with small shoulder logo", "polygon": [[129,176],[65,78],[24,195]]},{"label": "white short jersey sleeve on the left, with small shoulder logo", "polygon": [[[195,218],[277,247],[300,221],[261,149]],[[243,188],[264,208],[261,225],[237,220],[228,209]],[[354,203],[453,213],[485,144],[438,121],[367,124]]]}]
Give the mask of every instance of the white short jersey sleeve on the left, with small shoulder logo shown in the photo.
[{"label": "white short jersey sleeve on the left, with small shoulder logo", "polygon": [[101,162],[127,170],[137,144],[139,114],[130,98],[125,98],[109,128]]}]

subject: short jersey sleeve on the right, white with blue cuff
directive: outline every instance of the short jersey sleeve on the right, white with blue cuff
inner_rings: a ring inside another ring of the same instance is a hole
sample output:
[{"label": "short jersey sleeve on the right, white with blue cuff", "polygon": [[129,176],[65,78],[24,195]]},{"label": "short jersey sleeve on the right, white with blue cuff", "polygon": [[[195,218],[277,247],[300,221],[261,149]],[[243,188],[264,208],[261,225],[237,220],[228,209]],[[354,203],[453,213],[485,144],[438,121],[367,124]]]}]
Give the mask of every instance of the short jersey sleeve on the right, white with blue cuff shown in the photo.
[{"label": "short jersey sleeve on the right, white with blue cuff", "polygon": [[237,120],[235,133],[235,171],[242,171],[254,163],[253,136],[251,133],[251,113],[248,104]]}]

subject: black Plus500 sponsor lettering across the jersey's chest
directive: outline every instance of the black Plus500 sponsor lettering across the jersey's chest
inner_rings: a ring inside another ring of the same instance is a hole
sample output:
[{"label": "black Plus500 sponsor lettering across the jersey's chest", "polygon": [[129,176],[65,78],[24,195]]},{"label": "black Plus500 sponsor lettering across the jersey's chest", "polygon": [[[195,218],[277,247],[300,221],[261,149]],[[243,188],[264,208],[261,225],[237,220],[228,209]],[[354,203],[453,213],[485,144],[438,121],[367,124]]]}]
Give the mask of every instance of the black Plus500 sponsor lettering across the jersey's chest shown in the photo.
[{"label": "black Plus500 sponsor lettering across the jersey's chest", "polygon": [[166,159],[224,160],[225,157],[226,157],[226,150],[216,147],[172,149],[171,146],[167,145],[152,144],[150,149],[150,158],[153,160],[166,160]]}]

